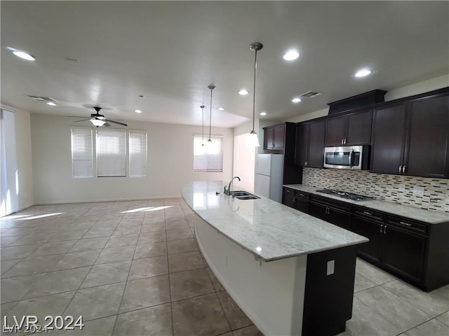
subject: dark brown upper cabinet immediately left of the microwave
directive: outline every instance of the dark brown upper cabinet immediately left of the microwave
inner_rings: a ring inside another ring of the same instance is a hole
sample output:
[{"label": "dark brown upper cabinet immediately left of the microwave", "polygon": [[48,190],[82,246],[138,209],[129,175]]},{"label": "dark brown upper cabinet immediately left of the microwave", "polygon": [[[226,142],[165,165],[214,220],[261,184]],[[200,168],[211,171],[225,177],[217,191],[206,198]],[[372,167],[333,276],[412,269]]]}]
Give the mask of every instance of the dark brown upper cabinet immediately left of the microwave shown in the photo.
[{"label": "dark brown upper cabinet immediately left of the microwave", "polygon": [[296,125],[295,165],[322,168],[326,120]]}]

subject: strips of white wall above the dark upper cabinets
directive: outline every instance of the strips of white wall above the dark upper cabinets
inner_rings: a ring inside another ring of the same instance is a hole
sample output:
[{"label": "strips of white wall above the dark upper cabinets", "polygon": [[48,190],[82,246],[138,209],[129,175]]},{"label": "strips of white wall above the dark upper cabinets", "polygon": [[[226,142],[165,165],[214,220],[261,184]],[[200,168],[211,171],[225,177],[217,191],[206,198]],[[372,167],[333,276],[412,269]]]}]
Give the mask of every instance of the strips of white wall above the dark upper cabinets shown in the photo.
[{"label": "strips of white wall above the dark upper cabinets", "polygon": [[[385,94],[384,98],[385,102],[389,102],[390,100],[399,99],[403,97],[410,97],[415,94],[438,90],[448,86],[449,86],[449,74],[446,74],[436,78],[422,80],[421,82],[414,83],[412,85],[407,85],[403,87],[398,87],[397,89],[394,90],[389,90],[389,92]],[[327,107],[326,109],[303,114],[301,116],[290,118],[286,121],[289,121],[290,123],[301,123],[302,121],[327,116],[328,112],[329,108]]]}]

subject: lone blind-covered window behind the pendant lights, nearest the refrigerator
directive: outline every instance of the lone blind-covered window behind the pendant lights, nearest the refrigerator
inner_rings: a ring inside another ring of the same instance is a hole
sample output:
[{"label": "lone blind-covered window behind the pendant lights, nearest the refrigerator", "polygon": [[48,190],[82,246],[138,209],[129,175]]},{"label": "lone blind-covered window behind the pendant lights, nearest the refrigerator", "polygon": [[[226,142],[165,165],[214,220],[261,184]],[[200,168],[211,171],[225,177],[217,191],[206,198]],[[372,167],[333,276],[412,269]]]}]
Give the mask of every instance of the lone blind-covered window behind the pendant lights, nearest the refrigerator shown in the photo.
[{"label": "lone blind-covered window behind the pendant lights, nearest the refrigerator", "polygon": [[[194,135],[194,172],[223,172],[223,138]],[[202,146],[204,144],[204,146]]]}]

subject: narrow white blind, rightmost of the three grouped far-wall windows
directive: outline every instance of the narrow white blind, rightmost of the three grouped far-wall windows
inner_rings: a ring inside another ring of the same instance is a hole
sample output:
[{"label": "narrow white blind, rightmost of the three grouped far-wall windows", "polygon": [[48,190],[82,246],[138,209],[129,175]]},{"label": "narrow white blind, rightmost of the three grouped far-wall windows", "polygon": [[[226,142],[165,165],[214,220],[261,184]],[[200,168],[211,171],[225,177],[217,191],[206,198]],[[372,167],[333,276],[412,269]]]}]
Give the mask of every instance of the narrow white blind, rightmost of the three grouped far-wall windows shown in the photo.
[{"label": "narrow white blind, rightmost of the three grouped far-wall windows", "polygon": [[147,176],[147,132],[129,131],[129,176]]}]

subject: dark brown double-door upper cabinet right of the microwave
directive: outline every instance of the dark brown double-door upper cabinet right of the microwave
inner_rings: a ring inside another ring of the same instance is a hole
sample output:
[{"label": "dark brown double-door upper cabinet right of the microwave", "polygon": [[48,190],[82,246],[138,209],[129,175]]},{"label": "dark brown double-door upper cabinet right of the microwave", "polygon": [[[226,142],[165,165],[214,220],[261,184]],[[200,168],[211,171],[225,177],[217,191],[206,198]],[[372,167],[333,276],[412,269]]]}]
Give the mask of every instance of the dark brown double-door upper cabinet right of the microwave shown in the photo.
[{"label": "dark brown double-door upper cabinet right of the microwave", "polygon": [[449,178],[449,93],[375,109],[371,172]]}]

